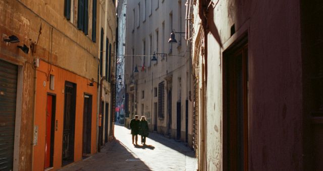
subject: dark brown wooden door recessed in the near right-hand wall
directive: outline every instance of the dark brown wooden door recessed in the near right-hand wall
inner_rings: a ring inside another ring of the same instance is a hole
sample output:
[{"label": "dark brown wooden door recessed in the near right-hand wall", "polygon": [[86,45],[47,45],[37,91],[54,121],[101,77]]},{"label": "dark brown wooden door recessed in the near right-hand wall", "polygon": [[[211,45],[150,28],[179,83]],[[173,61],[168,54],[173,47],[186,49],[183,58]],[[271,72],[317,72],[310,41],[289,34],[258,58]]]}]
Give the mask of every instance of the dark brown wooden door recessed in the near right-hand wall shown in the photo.
[{"label": "dark brown wooden door recessed in the near right-hand wall", "polygon": [[244,41],[223,55],[224,170],[248,170],[248,49]]}]

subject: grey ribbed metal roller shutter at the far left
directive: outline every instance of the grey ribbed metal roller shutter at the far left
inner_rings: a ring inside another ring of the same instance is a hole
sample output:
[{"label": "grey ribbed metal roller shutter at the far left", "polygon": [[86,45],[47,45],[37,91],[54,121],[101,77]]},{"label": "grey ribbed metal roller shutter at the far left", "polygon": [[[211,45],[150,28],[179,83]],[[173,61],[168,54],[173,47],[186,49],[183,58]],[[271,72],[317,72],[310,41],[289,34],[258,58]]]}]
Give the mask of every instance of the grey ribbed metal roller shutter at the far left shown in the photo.
[{"label": "grey ribbed metal roller shutter at the far left", "polygon": [[0,60],[0,170],[12,170],[18,66]]}]

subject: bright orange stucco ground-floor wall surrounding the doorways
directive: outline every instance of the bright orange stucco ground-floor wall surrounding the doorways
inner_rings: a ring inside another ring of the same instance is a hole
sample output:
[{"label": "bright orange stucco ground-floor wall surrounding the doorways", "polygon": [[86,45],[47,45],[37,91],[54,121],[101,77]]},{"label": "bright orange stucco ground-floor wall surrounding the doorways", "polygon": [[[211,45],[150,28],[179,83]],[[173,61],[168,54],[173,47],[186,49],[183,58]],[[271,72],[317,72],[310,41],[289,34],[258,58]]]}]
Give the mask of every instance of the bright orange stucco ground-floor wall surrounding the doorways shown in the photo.
[{"label": "bright orange stucco ground-floor wall surrounding the doorways", "polygon": [[[55,76],[55,90],[49,89],[48,71]],[[58,130],[55,131],[55,146],[53,167],[56,170],[62,166],[62,146],[63,146],[63,118],[64,118],[64,88],[65,81],[76,83],[76,113],[75,113],[75,143],[74,161],[82,158],[82,129],[83,129],[83,105],[84,93],[92,95],[92,129],[91,129],[91,153],[96,152],[96,82],[94,86],[87,85],[90,80],[81,77],[65,69],[50,65],[40,60],[37,68],[36,87],[36,115],[35,126],[38,126],[37,145],[34,146],[33,170],[44,170],[45,155],[45,126],[46,126],[46,101],[47,94],[56,95],[56,120]],[[55,125],[53,125],[55,126]]]}]

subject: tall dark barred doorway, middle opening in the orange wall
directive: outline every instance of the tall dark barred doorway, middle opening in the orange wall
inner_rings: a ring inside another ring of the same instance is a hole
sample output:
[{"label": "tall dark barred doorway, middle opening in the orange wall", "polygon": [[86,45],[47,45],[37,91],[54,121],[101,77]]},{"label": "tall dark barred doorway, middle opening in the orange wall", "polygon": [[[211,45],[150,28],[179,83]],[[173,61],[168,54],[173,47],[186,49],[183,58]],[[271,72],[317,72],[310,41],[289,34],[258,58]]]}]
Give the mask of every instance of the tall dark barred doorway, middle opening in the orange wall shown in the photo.
[{"label": "tall dark barred doorway, middle opening in the orange wall", "polygon": [[62,165],[74,161],[76,84],[65,81]]}]

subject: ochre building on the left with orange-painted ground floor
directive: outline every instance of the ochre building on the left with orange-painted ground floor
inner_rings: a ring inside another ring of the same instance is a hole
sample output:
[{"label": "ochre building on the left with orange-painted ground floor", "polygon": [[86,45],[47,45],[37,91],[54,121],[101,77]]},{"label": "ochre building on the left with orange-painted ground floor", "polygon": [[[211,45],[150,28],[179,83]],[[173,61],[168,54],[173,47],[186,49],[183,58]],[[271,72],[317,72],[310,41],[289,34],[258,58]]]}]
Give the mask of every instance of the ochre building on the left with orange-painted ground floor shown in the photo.
[{"label": "ochre building on the left with orange-painted ground floor", "polygon": [[[113,1],[0,1],[1,170],[58,169],[97,152],[106,4],[115,10]],[[115,31],[105,37],[114,42]]]}]

